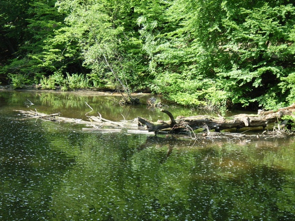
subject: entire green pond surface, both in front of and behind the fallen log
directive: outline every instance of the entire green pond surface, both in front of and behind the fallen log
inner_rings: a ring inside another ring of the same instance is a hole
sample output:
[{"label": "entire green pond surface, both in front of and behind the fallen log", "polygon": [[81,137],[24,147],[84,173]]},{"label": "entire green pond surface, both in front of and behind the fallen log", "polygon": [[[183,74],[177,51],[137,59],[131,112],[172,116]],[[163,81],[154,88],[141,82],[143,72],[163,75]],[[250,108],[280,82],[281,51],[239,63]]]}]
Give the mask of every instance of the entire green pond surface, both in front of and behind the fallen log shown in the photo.
[{"label": "entire green pond surface, both in front of and behind the fallen log", "polygon": [[[0,220],[295,220],[294,138],[195,142],[86,133],[80,125],[20,120],[13,111],[86,119],[87,102],[89,114],[110,120],[166,119],[145,105],[120,107],[111,99],[0,91]],[[199,114],[171,104],[169,111]]]}]

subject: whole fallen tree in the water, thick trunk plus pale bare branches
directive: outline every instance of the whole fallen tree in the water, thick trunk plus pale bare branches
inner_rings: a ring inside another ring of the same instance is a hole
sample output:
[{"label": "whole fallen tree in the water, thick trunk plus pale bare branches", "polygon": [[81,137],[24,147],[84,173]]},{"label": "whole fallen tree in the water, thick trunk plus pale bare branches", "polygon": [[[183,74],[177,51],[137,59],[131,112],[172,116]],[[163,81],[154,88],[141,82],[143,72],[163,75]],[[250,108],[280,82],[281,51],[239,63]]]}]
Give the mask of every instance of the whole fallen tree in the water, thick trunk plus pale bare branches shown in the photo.
[{"label": "whole fallen tree in the water, thick trunk plus pale bare branches", "polygon": [[[220,137],[227,136],[232,138],[243,138],[245,135],[235,134],[235,133],[216,133],[226,129],[236,128],[258,128],[262,127],[265,129],[269,123],[280,122],[283,117],[286,115],[294,116],[295,104],[287,108],[281,108],[277,111],[259,111],[258,114],[237,114],[232,117],[222,117],[222,116],[209,116],[209,115],[199,115],[199,116],[178,116],[176,119],[173,114],[166,110],[161,110],[169,116],[168,121],[157,121],[151,122],[148,119],[137,117],[133,120],[123,120],[120,122],[114,122],[107,120],[98,113],[98,116],[88,116],[88,120],[74,119],[61,117],[60,113],[54,114],[44,114],[37,111],[19,111],[25,117],[42,119],[42,120],[51,120],[58,122],[67,122],[75,124],[84,124],[88,128],[83,128],[84,131],[98,131],[105,133],[140,133],[140,134],[153,134],[157,135],[158,133],[186,133],[189,134],[191,138],[198,139],[202,137]],[[285,126],[286,121],[281,123],[278,131]],[[193,131],[196,129],[203,129],[205,132],[202,132],[196,135]],[[215,130],[215,132],[212,132]],[[192,136],[192,134],[194,136]],[[263,133],[265,136],[267,133]],[[276,133],[278,136],[285,136],[281,132]],[[288,133],[291,135],[292,133]],[[270,136],[274,136],[273,133]]]}]

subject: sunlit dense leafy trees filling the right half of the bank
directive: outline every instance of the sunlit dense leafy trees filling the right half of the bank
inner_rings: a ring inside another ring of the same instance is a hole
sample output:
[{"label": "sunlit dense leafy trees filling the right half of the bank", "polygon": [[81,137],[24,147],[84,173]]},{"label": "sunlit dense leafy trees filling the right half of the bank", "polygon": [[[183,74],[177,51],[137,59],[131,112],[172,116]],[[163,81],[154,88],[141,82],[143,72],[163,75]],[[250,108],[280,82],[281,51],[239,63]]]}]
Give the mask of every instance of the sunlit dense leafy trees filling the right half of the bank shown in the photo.
[{"label": "sunlit dense leafy trees filling the right half of the bank", "polygon": [[288,1],[149,6],[139,23],[155,92],[223,110],[231,103],[272,109],[294,101],[288,76],[294,73],[295,7]]}]

